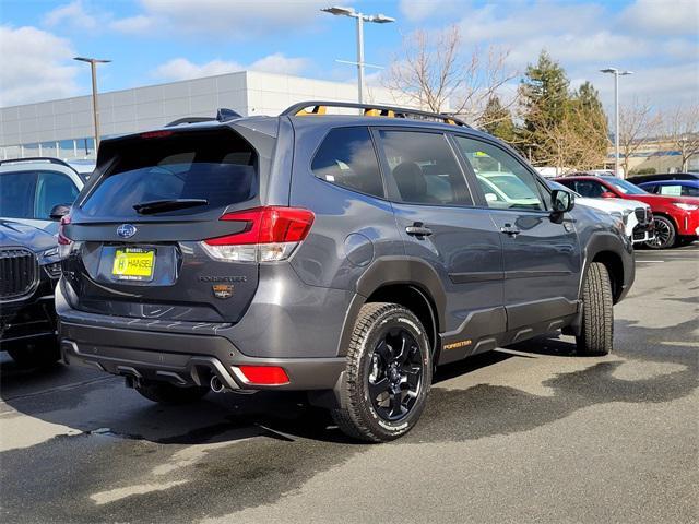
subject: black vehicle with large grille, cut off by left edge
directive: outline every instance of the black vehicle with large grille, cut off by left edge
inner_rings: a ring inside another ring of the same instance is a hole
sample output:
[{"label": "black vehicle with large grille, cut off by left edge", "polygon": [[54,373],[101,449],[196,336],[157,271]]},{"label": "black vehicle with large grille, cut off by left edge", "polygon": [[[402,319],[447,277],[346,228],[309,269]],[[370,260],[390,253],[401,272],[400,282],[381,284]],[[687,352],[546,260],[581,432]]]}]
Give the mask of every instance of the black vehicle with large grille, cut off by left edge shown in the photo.
[{"label": "black vehicle with large grille, cut off by left edge", "polygon": [[0,221],[0,349],[23,366],[60,358],[54,288],[61,274],[56,238]]}]

